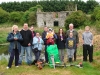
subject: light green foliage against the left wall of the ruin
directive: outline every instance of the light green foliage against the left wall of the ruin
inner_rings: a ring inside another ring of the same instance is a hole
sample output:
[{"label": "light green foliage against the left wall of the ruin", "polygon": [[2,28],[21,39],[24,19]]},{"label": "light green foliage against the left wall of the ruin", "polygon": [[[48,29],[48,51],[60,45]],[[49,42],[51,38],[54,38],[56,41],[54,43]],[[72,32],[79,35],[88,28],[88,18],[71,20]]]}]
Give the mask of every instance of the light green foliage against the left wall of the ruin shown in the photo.
[{"label": "light green foliage against the left wall of the ruin", "polygon": [[38,9],[42,11],[43,7],[41,5],[36,5],[27,10],[22,17],[23,23],[27,22],[29,25],[36,25],[36,12]]}]

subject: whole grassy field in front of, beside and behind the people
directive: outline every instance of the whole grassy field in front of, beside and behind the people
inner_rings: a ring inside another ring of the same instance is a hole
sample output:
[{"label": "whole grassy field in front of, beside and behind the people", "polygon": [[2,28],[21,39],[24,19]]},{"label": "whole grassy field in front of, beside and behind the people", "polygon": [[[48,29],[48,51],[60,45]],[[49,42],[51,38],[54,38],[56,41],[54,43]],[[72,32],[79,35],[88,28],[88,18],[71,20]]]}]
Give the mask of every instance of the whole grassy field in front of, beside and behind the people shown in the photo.
[{"label": "whole grassy field in front of, beside and behind the people", "polygon": [[[19,29],[22,29],[20,27]],[[54,28],[55,31],[58,31],[58,28]],[[43,28],[39,29],[35,27],[35,30],[38,32],[42,32]],[[0,44],[6,43],[6,37],[8,33],[11,31],[11,27],[2,27],[0,26]],[[79,36],[81,38],[82,30],[79,30]],[[96,32],[93,31],[94,35]],[[99,36],[98,36],[99,37]],[[26,63],[23,63],[22,66],[16,68],[13,66],[11,69],[6,69],[7,61],[5,59],[0,61],[0,75],[100,75],[100,40],[97,40],[98,37],[95,37],[95,46],[94,46],[94,62],[83,62],[83,68],[77,68],[75,66],[72,67],[56,67],[53,69],[49,66],[45,66],[42,70],[39,70],[36,66],[28,66]],[[0,46],[0,52],[6,53],[8,46]],[[67,59],[65,59],[67,60]],[[82,44],[81,39],[78,45],[77,51],[77,62],[73,62],[74,64],[78,64],[82,62]],[[68,63],[66,63],[68,64]]]}]

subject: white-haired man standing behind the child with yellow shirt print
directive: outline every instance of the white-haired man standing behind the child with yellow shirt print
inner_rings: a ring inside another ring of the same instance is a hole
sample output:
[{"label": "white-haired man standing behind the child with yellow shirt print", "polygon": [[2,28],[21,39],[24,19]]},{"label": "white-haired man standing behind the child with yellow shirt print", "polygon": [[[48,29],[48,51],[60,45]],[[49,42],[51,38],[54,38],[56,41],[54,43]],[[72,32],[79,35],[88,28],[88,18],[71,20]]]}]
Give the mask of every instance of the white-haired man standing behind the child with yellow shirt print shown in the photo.
[{"label": "white-haired man standing behind the child with yellow shirt print", "polygon": [[76,61],[76,52],[77,52],[77,45],[78,45],[78,43],[79,43],[79,37],[78,37],[78,33],[77,33],[77,31],[74,29],[74,25],[73,25],[72,23],[69,24],[69,30],[67,30],[66,38],[69,37],[70,32],[73,33],[73,37],[74,37],[75,40],[76,40],[76,49],[75,49],[75,52],[74,52],[74,61]]}]

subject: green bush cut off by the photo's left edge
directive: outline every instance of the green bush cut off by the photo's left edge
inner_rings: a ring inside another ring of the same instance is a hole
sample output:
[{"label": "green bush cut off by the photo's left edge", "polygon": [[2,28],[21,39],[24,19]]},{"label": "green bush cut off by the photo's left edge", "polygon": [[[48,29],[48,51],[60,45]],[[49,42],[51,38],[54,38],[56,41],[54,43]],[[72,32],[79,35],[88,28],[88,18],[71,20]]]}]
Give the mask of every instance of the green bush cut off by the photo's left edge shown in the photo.
[{"label": "green bush cut off by the photo's left edge", "polygon": [[0,8],[0,23],[8,22],[9,20],[9,13]]}]

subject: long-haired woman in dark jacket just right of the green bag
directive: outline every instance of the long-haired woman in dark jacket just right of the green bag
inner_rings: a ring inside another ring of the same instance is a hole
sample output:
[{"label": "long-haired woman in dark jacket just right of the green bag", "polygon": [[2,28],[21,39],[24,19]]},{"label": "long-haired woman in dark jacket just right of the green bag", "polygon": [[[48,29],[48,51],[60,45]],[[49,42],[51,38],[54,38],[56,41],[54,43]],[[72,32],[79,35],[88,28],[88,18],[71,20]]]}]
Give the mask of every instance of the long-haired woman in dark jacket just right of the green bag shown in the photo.
[{"label": "long-haired woman in dark jacket just right of the green bag", "polygon": [[59,55],[60,55],[61,62],[64,62],[64,49],[65,49],[65,42],[66,42],[65,39],[66,37],[65,37],[64,31],[62,28],[60,28],[57,34],[56,43],[59,49]]}]

